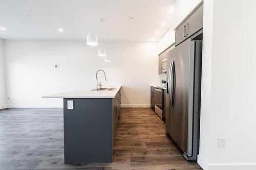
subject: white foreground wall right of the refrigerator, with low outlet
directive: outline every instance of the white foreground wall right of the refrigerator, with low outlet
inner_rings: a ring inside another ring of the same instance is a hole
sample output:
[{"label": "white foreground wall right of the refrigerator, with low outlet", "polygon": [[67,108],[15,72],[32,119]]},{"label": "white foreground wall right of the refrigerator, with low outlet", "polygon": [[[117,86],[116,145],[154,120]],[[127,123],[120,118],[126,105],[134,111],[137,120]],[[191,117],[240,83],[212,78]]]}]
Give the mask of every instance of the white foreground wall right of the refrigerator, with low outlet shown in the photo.
[{"label": "white foreground wall right of the refrigerator, with low outlet", "polygon": [[[256,1],[204,1],[199,164],[256,169]],[[231,26],[231,27],[230,27]],[[226,148],[218,148],[218,138]]]}]

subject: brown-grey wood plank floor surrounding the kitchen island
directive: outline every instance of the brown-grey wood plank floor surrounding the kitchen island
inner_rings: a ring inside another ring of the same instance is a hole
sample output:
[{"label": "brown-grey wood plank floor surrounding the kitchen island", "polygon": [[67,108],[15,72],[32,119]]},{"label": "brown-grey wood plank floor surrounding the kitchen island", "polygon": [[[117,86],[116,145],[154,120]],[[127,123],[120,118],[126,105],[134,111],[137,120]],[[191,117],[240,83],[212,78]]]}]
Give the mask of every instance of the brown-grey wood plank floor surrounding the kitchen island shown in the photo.
[{"label": "brown-grey wood plank floor surrounding the kitchen island", "polygon": [[[104,141],[102,141],[104,142]],[[201,169],[150,108],[121,109],[113,163],[64,164],[62,109],[0,110],[0,169]]]}]

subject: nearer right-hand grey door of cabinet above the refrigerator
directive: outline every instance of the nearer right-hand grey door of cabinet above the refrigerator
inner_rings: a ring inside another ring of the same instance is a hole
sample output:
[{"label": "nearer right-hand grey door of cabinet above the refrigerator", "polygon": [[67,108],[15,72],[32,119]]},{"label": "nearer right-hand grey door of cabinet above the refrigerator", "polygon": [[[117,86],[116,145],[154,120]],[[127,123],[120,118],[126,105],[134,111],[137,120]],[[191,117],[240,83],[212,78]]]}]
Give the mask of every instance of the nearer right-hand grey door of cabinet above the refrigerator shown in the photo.
[{"label": "nearer right-hand grey door of cabinet above the refrigerator", "polygon": [[187,19],[187,37],[203,28],[203,6]]}]

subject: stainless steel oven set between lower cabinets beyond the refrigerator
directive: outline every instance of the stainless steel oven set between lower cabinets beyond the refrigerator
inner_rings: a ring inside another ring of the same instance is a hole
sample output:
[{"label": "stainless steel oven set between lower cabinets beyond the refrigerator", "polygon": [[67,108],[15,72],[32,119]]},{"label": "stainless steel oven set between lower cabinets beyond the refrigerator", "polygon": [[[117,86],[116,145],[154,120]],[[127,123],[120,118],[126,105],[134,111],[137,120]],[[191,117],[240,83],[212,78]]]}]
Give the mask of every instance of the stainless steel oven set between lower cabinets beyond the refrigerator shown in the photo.
[{"label": "stainless steel oven set between lower cabinets beyond the refrigerator", "polygon": [[155,88],[155,113],[163,119],[163,89]]}]

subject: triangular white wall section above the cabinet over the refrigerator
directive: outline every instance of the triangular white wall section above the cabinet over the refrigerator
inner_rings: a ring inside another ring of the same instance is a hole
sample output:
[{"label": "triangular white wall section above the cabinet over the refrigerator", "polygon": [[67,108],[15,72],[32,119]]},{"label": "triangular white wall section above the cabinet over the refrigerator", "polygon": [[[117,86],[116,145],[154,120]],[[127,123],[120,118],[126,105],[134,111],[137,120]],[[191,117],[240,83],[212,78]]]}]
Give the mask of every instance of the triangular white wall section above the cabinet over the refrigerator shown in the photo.
[{"label": "triangular white wall section above the cabinet over the refrigerator", "polygon": [[193,11],[202,0],[177,0],[174,3],[174,29]]}]

